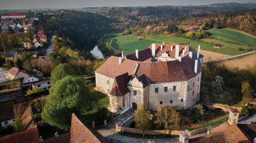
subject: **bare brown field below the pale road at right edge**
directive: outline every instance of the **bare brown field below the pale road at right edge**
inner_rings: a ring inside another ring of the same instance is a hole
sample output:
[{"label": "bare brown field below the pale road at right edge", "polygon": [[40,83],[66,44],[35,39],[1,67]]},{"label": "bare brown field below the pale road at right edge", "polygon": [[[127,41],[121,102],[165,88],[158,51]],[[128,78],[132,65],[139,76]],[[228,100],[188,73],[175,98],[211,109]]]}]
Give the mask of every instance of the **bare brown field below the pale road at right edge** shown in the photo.
[{"label": "bare brown field below the pale road at right edge", "polygon": [[256,65],[256,54],[245,56],[241,59],[234,59],[223,62],[224,64],[232,67],[238,67],[239,69],[246,69],[249,66]]}]

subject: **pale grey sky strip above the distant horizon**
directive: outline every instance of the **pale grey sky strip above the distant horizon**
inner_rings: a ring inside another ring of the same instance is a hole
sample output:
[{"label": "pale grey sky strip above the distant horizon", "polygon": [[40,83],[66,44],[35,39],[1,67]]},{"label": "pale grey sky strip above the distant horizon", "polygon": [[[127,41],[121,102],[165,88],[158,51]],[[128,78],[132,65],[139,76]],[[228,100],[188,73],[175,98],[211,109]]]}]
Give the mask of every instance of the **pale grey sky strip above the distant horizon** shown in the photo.
[{"label": "pale grey sky strip above the distant horizon", "polygon": [[0,9],[84,8],[109,6],[209,5],[256,0],[0,0]]}]

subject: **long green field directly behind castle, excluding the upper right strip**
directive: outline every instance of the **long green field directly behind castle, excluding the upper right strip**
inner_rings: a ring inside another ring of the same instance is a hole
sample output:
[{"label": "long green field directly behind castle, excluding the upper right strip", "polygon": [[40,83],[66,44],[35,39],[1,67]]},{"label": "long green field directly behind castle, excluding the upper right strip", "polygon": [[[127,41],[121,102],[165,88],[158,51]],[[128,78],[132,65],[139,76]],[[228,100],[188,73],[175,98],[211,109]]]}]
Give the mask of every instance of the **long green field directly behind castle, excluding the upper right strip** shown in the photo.
[{"label": "long green field directly behind castle, excluding the upper right strip", "polygon": [[[247,35],[244,35],[244,34],[242,36],[248,37]],[[145,39],[138,40],[137,36],[133,34],[120,35],[117,37],[107,38],[105,39],[105,41],[110,43],[112,39],[111,46],[119,51],[123,50],[127,54],[134,53],[135,49],[139,49],[139,50],[146,49],[152,43],[163,43],[163,42],[166,44],[188,44],[194,49],[197,49],[198,45],[201,45],[201,49],[203,50],[218,52],[218,53],[227,54],[227,55],[234,55],[234,54],[241,53],[241,51],[238,50],[239,47],[243,49],[252,48],[246,45],[237,45],[233,43],[228,43],[223,41],[224,39],[219,40],[219,39],[204,38],[199,41],[193,41],[193,40],[182,38],[182,37],[164,36],[164,35],[155,35],[155,36],[144,35],[144,37]],[[223,45],[223,48],[214,48],[216,44]]]}]

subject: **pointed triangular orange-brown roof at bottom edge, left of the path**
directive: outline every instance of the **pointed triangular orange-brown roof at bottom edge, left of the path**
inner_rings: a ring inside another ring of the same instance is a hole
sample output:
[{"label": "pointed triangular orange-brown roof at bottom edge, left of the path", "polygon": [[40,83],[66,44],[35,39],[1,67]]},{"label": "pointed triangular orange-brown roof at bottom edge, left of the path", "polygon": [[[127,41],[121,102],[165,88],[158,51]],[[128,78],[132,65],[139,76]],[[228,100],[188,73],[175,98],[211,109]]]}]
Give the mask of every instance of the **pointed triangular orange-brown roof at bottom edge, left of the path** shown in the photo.
[{"label": "pointed triangular orange-brown roof at bottom edge, left of the path", "polygon": [[70,142],[110,143],[92,126],[72,114]]}]

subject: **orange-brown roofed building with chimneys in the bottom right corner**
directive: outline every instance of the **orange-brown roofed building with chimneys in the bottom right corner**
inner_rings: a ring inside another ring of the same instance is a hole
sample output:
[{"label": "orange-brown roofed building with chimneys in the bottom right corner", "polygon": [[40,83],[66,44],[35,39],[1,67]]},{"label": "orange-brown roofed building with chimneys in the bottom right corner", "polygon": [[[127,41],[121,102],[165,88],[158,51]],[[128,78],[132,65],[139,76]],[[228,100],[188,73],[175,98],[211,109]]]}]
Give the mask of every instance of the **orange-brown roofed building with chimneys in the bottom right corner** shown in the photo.
[{"label": "orange-brown roofed building with chimneys in the bottom right corner", "polygon": [[256,141],[256,125],[237,124],[239,111],[231,108],[228,121],[208,130],[207,135],[189,138],[186,132],[181,132],[181,143],[253,143]]}]

